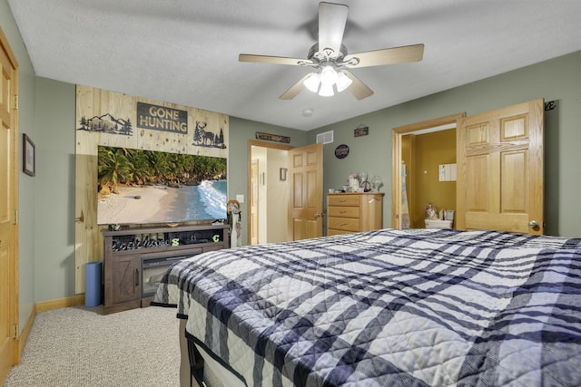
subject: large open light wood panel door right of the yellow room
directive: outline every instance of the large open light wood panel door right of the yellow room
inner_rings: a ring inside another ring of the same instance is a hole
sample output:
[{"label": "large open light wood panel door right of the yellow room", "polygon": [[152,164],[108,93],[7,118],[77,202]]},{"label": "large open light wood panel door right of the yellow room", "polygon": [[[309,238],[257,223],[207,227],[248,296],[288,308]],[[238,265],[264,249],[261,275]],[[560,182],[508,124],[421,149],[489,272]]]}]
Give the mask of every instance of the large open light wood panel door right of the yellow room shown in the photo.
[{"label": "large open light wood panel door right of the yellow room", "polygon": [[458,119],[459,229],[543,234],[542,99]]}]

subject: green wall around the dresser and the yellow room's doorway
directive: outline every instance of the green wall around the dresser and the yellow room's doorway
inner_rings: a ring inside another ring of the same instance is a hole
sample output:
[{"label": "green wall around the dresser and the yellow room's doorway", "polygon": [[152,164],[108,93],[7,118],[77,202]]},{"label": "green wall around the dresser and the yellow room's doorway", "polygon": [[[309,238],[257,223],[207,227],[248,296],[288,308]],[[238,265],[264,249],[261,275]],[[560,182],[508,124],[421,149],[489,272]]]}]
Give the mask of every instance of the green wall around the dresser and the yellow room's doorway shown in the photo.
[{"label": "green wall around the dresser and the yellow room's doorway", "polygon": [[[577,203],[577,192],[581,190],[580,68],[581,52],[571,53],[310,131],[308,142],[322,131],[335,132],[335,142],[324,146],[324,189],[337,188],[352,171],[378,174],[385,183],[381,189],[386,192],[383,218],[384,226],[389,227],[392,128],[544,98],[546,102],[556,101],[556,109],[545,112],[546,233],[581,237],[581,206]],[[359,125],[369,126],[369,136],[353,137],[353,129]],[[350,147],[346,159],[334,157],[339,144]]]}]

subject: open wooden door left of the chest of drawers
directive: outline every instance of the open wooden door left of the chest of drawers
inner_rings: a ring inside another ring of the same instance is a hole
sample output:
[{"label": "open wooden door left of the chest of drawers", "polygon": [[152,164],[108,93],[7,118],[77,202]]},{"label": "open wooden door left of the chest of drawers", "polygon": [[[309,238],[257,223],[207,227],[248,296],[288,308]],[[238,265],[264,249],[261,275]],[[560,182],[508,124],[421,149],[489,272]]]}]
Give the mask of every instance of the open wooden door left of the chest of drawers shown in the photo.
[{"label": "open wooden door left of the chest of drawers", "polygon": [[320,143],[289,150],[288,239],[323,235],[323,146]]}]

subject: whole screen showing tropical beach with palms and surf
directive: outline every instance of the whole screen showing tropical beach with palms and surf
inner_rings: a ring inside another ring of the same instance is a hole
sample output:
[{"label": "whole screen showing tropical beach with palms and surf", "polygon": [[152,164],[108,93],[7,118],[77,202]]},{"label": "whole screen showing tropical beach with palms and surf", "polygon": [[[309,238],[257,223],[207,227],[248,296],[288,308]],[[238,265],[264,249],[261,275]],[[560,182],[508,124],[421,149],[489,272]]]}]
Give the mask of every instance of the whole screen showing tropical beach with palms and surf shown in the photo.
[{"label": "whole screen showing tropical beach with palms and surf", "polygon": [[226,218],[225,158],[98,147],[99,225]]}]

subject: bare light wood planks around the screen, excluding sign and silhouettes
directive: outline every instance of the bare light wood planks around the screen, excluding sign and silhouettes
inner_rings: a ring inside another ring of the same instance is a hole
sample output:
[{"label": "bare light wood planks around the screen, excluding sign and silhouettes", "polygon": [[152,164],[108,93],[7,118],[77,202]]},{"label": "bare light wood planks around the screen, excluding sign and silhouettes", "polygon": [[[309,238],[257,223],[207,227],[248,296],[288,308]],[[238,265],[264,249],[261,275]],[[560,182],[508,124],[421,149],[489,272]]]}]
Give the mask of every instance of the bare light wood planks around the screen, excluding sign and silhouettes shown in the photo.
[{"label": "bare light wood planks around the screen, excluding sign and silhouettes", "polygon": [[[156,131],[137,127],[137,102],[187,111],[188,132]],[[82,130],[82,120],[110,114],[116,119],[129,119],[131,135]],[[142,150],[162,150],[173,153],[228,157],[229,116],[168,102],[158,102],[119,92],[92,87],[76,87],[75,119],[75,225],[74,260],[75,292],[84,293],[84,266],[103,261],[103,236],[97,225],[97,147],[99,145]],[[196,121],[205,122],[205,131],[224,136],[225,148],[202,147],[193,141]]]}]

